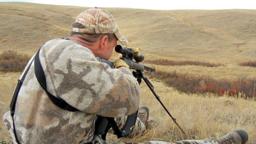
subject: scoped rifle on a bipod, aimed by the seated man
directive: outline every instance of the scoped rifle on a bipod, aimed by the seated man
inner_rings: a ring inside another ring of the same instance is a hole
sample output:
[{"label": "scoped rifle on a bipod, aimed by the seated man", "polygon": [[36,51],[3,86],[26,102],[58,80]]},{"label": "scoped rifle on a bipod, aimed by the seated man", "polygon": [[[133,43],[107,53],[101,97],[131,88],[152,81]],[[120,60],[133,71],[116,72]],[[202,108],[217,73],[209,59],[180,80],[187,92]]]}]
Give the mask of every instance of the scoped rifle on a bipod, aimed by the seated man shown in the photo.
[{"label": "scoped rifle on a bipod, aimed by the seated man", "polygon": [[[160,102],[160,104],[162,105],[164,110],[167,112],[167,114],[172,118],[173,122],[178,126],[178,128],[180,128],[181,132],[186,135],[185,131],[180,127],[178,122],[176,122],[176,118],[174,118],[170,114],[170,112],[166,109],[166,107],[164,106],[164,104],[160,100],[160,97],[154,91],[154,86],[151,84],[151,82],[148,80],[148,78],[146,78],[146,76],[144,74],[144,70],[150,70],[152,72],[155,72],[156,68],[146,66],[146,65],[143,65],[143,64],[139,63],[139,62],[142,62],[144,60],[144,55],[141,52],[140,52],[140,56],[138,56],[134,53],[134,51],[131,48],[125,48],[125,47],[120,46],[120,45],[117,45],[115,47],[115,51],[122,54],[122,57],[120,57],[120,59],[124,60],[124,62],[126,62],[126,64],[128,64],[128,66],[130,67],[130,69],[134,70],[132,72],[132,74],[135,78],[137,78],[138,83],[140,84],[142,79],[144,80],[144,82],[147,84],[147,86],[149,87],[151,92],[154,94],[154,96],[156,97],[158,102]],[[111,62],[111,61],[108,61],[108,60],[105,60],[105,59],[102,59],[102,58],[99,58],[99,57],[97,57],[97,59],[100,62],[104,62],[104,63],[108,64],[111,68],[114,68],[114,62]],[[135,60],[135,61],[133,61],[133,60]]]}]

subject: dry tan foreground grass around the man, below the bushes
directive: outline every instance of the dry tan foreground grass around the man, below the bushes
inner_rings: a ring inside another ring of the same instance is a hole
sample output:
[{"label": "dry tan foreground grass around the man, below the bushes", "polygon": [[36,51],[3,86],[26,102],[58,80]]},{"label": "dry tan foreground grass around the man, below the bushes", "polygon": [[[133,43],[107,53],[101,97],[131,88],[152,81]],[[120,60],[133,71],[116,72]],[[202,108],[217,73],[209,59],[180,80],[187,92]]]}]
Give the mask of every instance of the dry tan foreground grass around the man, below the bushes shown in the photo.
[{"label": "dry tan foreground grass around the man, below the bushes", "polygon": [[[20,73],[2,73],[0,106],[2,114],[9,109],[12,92],[16,84],[16,78]],[[208,137],[218,138],[232,130],[244,129],[250,136],[249,144],[256,141],[256,104],[254,101],[242,98],[213,97],[210,94],[204,96],[196,94],[180,93],[174,88],[169,88],[160,82],[152,82],[162,102],[177,118],[178,123],[186,130],[189,136],[196,136],[196,139]],[[235,102],[235,105],[226,103],[226,100]],[[150,109],[150,115],[154,116],[157,126],[148,130],[144,136],[135,138],[112,139],[110,142],[144,142],[148,140],[162,140],[174,142],[186,139],[180,130],[168,117],[162,106],[154,98],[148,87],[142,82],[141,105]],[[10,140],[4,124],[0,122],[1,140]]]}]

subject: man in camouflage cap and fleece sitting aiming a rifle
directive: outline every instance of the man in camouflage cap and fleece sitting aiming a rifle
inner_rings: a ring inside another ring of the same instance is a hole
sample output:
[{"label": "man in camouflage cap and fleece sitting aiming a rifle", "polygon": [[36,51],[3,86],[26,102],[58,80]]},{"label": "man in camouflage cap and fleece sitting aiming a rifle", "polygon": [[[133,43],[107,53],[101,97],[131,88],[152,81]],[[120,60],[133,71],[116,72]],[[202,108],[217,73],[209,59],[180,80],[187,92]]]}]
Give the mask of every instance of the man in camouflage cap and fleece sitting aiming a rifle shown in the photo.
[{"label": "man in camouflage cap and fleece sitting aiming a rifle", "polygon": [[[14,143],[17,138],[20,143],[108,144],[100,135],[94,135],[96,115],[116,117],[116,123],[121,128],[126,116],[138,110],[139,85],[128,65],[121,59],[115,59],[115,68],[112,69],[96,59],[100,57],[108,60],[117,40],[128,44],[120,34],[114,17],[100,8],[91,8],[82,12],[72,27],[68,39],[46,42],[40,49],[39,59],[48,92],[77,111],[63,110],[50,100],[35,76],[33,56],[16,102],[15,128],[10,112],[4,115],[4,122]],[[141,107],[133,134],[145,130],[148,115],[148,109]],[[224,136],[224,139],[176,143],[218,144],[222,141],[226,144],[241,144],[247,141],[246,136],[244,130],[238,130]]]}]

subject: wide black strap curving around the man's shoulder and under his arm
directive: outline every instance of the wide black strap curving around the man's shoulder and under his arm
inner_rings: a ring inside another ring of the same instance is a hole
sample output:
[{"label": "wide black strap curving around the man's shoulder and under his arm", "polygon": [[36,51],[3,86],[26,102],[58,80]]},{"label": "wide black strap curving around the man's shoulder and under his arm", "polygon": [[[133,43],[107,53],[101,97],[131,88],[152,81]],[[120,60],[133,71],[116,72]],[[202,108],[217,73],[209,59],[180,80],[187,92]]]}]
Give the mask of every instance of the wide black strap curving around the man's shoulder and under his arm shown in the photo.
[{"label": "wide black strap curving around the man's shoulder and under his arm", "polygon": [[42,88],[47,93],[50,100],[55,105],[57,105],[58,107],[60,107],[64,110],[68,110],[68,111],[71,111],[71,112],[77,111],[78,109],[74,108],[73,106],[70,106],[67,102],[65,102],[61,98],[57,98],[57,97],[53,96],[50,92],[47,91],[46,78],[45,78],[44,70],[43,70],[42,65],[40,64],[40,60],[39,60],[39,51],[40,50],[38,50],[38,52],[36,53],[35,60],[34,60],[35,61],[34,62],[34,67],[35,67],[36,79],[38,80],[39,84],[42,86]]}]

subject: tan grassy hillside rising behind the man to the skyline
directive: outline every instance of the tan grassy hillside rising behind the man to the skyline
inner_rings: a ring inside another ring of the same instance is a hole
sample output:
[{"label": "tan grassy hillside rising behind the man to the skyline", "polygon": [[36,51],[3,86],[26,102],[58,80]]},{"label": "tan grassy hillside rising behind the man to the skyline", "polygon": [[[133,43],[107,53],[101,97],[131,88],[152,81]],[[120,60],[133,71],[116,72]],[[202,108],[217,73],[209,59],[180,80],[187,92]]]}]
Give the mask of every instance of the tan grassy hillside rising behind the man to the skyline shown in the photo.
[{"label": "tan grassy hillside rising behind the man to the skyline", "polygon": [[[24,2],[0,3],[0,50],[36,50],[52,38],[68,36],[86,10]],[[166,58],[239,62],[256,54],[256,10],[141,10],[105,8],[130,46]]]}]

